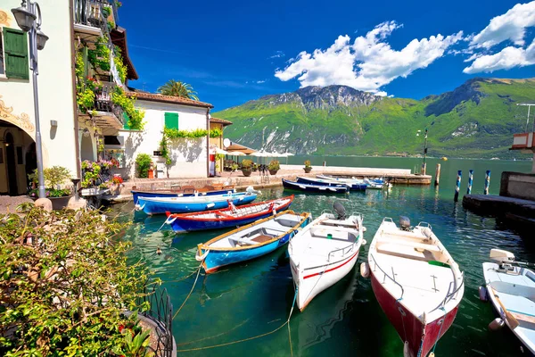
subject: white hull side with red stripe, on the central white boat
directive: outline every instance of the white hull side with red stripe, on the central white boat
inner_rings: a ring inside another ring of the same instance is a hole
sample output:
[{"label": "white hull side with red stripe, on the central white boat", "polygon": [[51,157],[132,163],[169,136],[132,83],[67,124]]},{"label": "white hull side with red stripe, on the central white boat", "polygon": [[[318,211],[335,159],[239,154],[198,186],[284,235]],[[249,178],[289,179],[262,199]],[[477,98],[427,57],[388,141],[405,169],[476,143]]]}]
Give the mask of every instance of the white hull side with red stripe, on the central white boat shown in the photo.
[{"label": "white hull side with red stripe, on the central white boat", "polygon": [[300,277],[299,270],[294,263],[290,262],[292,278],[295,285],[298,286],[296,303],[300,311],[305,310],[318,294],[336,284],[354,269],[358,259],[358,251],[346,259],[334,262],[326,267],[321,266],[311,270],[304,270],[302,277]]}]

